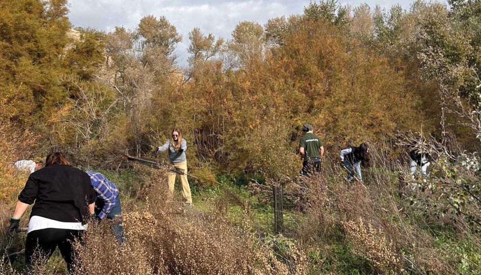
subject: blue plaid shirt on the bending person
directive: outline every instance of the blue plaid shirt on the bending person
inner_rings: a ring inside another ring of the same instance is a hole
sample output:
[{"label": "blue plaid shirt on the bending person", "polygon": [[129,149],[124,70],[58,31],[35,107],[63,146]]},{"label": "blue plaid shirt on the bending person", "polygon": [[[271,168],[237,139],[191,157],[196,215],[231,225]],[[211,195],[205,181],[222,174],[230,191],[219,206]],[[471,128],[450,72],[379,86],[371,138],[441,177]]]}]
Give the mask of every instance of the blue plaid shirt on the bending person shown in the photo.
[{"label": "blue plaid shirt on the bending person", "polygon": [[119,195],[119,190],[101,173],[87,171],[87,174],[90,176],[90,182],[97,193],[97,197],[104,201],[104,208],[99,213],[99,218],[104,220],[105,217],[107,217],[107,214],[110,213],[110,210],[112,210],[112,207],[115,205],[115,200]]}]

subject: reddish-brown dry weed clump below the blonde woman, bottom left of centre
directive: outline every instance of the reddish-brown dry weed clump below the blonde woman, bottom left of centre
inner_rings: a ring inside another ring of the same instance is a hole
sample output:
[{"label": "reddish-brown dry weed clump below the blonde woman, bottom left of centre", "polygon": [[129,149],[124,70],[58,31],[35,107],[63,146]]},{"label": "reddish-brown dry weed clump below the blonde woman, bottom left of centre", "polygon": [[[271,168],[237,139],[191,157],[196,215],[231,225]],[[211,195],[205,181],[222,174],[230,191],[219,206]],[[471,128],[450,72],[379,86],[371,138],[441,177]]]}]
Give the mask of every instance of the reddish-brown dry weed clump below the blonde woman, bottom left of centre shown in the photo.
[{"label": "reddish-brown dry weed clump below the blonde woman, bottom left of centre", "polygon": [[[118,246],[107,224],[89,227],[77,245],[77,274],[288,274],[287,266],[246,223],[232,226],[226,208],[187,208],[167,191],[166,171],[156,171],[123,213],[127,241]],[[300,273],[302,274],[302,273]]]}]

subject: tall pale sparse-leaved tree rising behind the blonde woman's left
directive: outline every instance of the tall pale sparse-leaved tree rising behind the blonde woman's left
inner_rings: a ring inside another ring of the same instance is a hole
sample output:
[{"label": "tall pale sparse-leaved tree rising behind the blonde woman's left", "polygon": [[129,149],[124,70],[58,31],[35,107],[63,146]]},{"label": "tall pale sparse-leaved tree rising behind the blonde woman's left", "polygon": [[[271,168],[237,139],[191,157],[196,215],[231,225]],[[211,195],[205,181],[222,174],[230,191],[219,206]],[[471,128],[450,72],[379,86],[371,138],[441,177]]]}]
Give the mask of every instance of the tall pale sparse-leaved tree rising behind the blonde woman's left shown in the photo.
[{"label": "tall pale sparse-leaved tree rising behind the blonde woman's left", "polygon": [[135,154],[140,155],[151,150],[147,125],[152,95],[165,96],[170,87],[179,83],[179,77],[183,80],[174,66],[174,50],[182,39],[165,17],[154,16],[142,18],[136,31],[116,27],[106,39],[109,62],[102,80],[117,92],[129,120],[125,129],[133,139]]}]

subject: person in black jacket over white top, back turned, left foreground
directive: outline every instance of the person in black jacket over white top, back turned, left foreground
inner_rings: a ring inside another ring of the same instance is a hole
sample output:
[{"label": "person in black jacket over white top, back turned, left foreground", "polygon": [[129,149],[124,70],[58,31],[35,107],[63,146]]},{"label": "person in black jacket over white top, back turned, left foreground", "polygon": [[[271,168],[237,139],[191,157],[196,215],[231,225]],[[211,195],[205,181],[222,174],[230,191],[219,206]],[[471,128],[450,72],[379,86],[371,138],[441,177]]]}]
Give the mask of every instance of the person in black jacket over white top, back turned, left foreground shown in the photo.
[{"label": "person in black jacket over white top, back turned, left foreground", "polygon": [[96,198],[88,174],[70,166],[61,153],[49,154],[45,168],[30,174],[8,227],[8,234],[13,237],[28,205],[35,202],[28,222],[25,274],[32,273],[34,252],[39,251],[48,259],[56,247],[72,272],[72,242],[87,228]]}]

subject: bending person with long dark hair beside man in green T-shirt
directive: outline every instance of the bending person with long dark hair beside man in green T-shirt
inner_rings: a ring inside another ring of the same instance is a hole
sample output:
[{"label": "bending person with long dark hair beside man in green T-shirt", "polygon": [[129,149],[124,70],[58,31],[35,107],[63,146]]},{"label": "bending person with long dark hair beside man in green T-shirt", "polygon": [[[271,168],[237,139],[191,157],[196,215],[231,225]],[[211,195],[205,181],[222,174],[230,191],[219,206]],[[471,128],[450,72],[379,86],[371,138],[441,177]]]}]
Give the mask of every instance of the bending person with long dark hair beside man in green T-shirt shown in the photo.
[{"label": "bending person with long dark hair beside man in green T-shirt", "polygon": [[339,157],[341,158],[341,166],[347,170],[347,179],[352,181],[355,172],[357,179],[362,181],[361,163],[365,167],[368,167],[370,164],[368,144],[363,142],[359,147],[341,150]]}]

